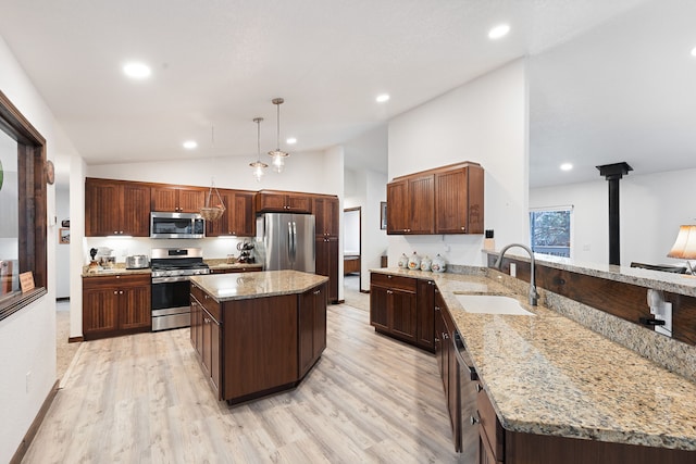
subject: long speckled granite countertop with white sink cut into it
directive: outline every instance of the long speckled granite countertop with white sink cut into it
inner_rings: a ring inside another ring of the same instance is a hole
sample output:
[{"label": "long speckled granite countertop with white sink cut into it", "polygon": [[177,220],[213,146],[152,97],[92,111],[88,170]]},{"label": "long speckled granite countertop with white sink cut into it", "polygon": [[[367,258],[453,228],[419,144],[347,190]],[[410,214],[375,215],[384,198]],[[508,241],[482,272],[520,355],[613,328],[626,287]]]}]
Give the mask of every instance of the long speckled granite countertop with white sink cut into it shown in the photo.
[{"label": "long speckled granite countertop with white sink cut into it", "polygon": [[[398,268],[432,279],[502,426],[512,431],[696,450],[696,384],[495,278]],[[457,292],[506,293],[534,316],[468,313]]]}]

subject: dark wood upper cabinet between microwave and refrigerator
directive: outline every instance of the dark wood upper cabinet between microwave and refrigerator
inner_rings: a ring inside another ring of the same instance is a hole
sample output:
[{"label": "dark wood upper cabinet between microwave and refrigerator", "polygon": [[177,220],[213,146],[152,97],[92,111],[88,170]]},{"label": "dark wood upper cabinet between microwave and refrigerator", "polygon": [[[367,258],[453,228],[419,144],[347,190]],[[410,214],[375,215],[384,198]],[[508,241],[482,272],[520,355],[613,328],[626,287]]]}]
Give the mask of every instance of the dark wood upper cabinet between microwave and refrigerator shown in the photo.
[{"label": "dark wood upper cabinet between microwave and refrigerator", "polygon": [[[206,237],[253,237],[257,222],[253,213],[254,192],[244,190],[220,189],[220,198],[225,204],[225,212],[216,221],[206,221]],[[217,200],[213,193],[211,199]]]}]

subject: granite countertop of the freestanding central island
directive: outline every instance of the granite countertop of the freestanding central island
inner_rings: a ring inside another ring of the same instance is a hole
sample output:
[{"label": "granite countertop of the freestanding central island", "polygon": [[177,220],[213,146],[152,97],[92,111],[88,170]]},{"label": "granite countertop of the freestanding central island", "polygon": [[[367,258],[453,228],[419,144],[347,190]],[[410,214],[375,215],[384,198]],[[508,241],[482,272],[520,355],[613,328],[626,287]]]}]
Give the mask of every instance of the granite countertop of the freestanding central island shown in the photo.
[{"label": "granite countertop of the freestanding central island", "polygon": [[198,285],[217,302],[301,293],[325,281],[328,281],[328,277],[298,271],[209,274],[191,277],[191,283]]}]

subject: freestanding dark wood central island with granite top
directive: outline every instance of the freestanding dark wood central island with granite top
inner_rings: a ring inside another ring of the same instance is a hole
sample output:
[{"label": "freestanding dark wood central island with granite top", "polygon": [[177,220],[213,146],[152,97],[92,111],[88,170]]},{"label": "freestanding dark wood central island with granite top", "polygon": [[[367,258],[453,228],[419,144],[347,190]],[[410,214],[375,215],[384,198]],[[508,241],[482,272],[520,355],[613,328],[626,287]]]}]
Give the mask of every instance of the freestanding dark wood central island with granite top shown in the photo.
[{"label": "freestanding dark wood central island with granite top", "polygon": [[326,348],[327,277],[269,271],[190,281],[191,344],[219,400],[294,388]]}]

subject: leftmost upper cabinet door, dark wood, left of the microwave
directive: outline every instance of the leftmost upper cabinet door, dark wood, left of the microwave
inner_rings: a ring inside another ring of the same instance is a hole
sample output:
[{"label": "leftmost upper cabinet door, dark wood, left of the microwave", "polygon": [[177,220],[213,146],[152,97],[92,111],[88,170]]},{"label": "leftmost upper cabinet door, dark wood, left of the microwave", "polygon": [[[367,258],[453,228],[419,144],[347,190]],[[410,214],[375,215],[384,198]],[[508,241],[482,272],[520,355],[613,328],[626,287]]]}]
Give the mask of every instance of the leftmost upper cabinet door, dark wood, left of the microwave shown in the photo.
[{"label": "leftmost upper cabinet door, dark wood, left of the microwave", "polygon": [[87,179],[85,183],[85,236],[105,237],[121,231],[119,183]]}]

